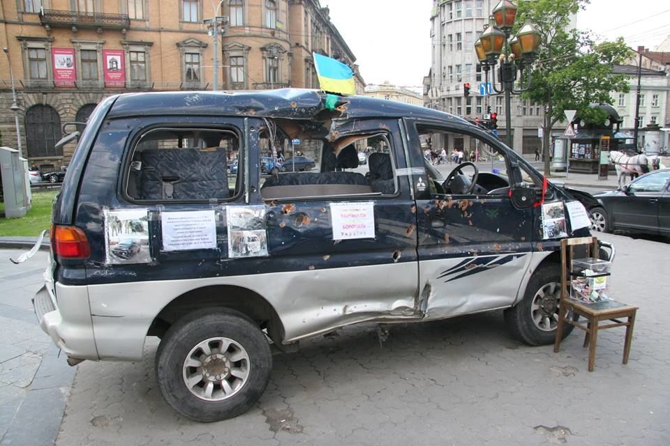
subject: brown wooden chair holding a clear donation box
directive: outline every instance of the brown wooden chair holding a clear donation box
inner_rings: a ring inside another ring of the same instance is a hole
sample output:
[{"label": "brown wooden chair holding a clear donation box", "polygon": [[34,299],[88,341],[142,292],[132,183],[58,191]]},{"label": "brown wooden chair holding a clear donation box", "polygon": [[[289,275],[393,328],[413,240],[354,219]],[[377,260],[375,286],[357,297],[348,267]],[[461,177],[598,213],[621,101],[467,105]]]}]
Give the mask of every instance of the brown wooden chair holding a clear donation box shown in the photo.
[{"label": "brown wooden chair holding a clear donation box", "polygon": [[[563,323],[565,322],[574,325],[576,328],[580,328],[586,332],[586,335],[584,336],[584,347],[588,346],[588,371],[593,371],[595,368],[595,348],[597,344],[598,330],[625,327],[626,340],[623,347],[623,364],[627,364],[637,307],[625,305],[613,300],[588,304],[569,297],[572,279],[570,272],[572,259],[574,258],[574,248],[579,245],[586,246],[587,257],[597,258],[600,251],[600,245],[595,237],[566,238],[561,240],[560,308],[558,311],[556,342],[553,344],[553,351],[554,353],[558,353],[560,341],[563,337]],[[567,317],[568,314],[571,314],[571,316]],[[579,321],[574,321],[572,315],[582,316],[586,319],[587,325],[585,326],[582,323],[579,323]],[[619,318],[627,318],[627,321],[622,322],[618,320]],[[612,323],[600,325],[601,321],[610,321]]]}]

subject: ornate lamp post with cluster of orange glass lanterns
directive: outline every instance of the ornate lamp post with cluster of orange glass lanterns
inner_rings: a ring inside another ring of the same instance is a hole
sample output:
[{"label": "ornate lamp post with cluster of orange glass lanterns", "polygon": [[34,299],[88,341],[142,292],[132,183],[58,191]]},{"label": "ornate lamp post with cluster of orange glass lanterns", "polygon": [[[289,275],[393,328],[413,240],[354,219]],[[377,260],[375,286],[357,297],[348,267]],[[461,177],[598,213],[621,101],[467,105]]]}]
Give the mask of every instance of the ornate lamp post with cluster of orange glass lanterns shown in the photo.
[{"label": "ornate lamp post with cluster of orange glass lanterns", "polygon": [[[533,61],[537,56],[537,48],[542,42],[542,35],[535,26],[526,22],[516,36],[511,36],[516,19],[516,6],[512,1],[501,0],[491,11],[488,26],[475,42],[477,60],[482,65],[489,84],[489,71],[493,90],[496,94],[505,94],[505,134],[507,146],[512,147],[512,110],[511,95],[518,95],[530,88],[530,75]],[[512,37],[512,38],[510,38]],[[496,84],[496,64],[498,67],[498,84]],[[517,75],[517,72],[519,73]],[[519,79],[518,88],[514,87]]]}]

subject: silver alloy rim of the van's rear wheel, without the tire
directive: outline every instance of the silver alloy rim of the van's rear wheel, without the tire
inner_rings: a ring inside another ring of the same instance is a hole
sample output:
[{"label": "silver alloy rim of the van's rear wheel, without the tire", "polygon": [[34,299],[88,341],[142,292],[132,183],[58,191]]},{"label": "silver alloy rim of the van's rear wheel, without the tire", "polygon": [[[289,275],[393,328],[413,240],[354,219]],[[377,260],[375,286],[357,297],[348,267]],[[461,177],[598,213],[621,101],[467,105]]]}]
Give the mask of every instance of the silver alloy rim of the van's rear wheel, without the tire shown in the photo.
[{"label": "silver alloy rim of the van's rear wheel, without the tire", "polygon": [[184,384],[195,397],[222,401],[239,392],[249,378],[249,355],[238,342],[227,337],[211,337],[186,355]]}]

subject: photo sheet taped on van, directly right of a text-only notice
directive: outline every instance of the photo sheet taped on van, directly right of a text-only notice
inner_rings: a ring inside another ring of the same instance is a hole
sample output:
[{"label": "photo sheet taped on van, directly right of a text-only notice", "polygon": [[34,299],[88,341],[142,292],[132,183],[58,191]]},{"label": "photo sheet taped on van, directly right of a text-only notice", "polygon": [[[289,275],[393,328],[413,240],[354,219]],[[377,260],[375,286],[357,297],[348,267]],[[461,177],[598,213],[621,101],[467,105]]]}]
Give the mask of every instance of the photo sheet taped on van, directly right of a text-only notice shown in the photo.
[{"label": "photo sheet taped on van, directly right of a text-only notice", "polygon": [[265,206],[228,206],[228,257],[267,256]]}]

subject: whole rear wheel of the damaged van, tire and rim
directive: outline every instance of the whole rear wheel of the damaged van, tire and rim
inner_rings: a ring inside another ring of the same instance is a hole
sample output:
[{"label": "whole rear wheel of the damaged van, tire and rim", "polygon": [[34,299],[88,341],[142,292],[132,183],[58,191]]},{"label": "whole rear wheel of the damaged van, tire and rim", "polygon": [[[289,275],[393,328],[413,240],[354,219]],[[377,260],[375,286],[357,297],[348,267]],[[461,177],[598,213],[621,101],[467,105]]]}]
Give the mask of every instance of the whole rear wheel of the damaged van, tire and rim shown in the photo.
[{"label": "whole rear wheel of the damaged van, tire and rim", "polygon": [[[224,344],[228,348],[221,354]],[[168,329],[156,351],[156,380],[163,398],[198,422],[246,412],[265,390],[271,369],[265,334],[232,309],[209,307],[187,314]]]}]

